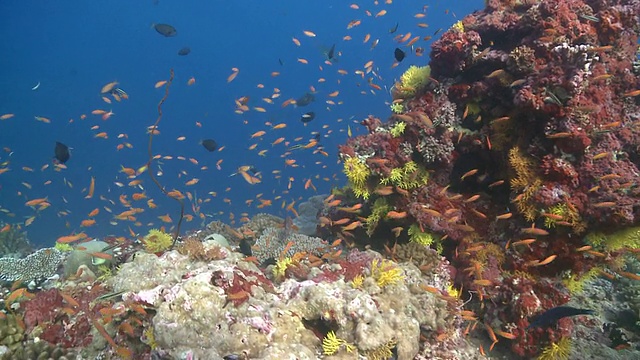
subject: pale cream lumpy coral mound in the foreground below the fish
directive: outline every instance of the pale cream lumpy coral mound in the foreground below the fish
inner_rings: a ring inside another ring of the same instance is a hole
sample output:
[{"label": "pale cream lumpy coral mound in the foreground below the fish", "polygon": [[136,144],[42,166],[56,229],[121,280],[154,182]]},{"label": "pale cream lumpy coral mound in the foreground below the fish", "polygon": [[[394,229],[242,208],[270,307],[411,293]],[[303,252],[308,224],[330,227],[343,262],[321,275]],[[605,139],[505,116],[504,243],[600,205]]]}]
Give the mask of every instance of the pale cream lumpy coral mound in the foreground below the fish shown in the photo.
[{"label": "pale cream lumpy coral mound in the foreground below the fish", "polygon": [[[422,288],[444,291],[446,272],[427,277],[411,263],[355,251],[344,264],[364,266],[351,265],[352,275],[341,262],[316,268],[296,260],[296,274],[304,279],[286,270],[276,285],[235,252],[219,260],[193,260],[177,251],[160,257],[140,253],[108,280],[124,292],[124,302],[154,309],[154,351],[208,359],[234,354],[316,359],[349,352],[383,359],[393,350],[398,359],[413,359],[424,347],[421,336],[439,334],[447,334],[446,342],[434,342],[429,351],[454,344],[461,353],[469,351],[451,311],[456,301]],[[356,273],[362,282],[354,287],[348,278]],[[218,335],[208,335],[213,332]]]}]

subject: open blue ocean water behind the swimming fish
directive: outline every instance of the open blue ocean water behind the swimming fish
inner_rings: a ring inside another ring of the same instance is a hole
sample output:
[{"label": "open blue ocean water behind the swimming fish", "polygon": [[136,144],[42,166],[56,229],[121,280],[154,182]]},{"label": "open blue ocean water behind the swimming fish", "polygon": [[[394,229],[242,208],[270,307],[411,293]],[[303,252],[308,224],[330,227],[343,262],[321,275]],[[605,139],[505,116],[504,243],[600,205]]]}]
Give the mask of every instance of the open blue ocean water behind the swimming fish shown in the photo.
[{"label": "open blue ocean water behind the swimming fish", "polygon": [[[175,226],[178,203],[163,196],[147,173],[136,177],[142,180],[138,187],[128,186],[134,179],[120,171],[122,166],[138,169],[147,162],[147,127],[157,119],[157,105],[165,92],[165,87],[154,88],[154,84],[168,80],[171,69],[175,78],[162,108],[160,134],[153,139],[153,154],[172,159],[154,161],[151,171],[162,172],[158,180],[167,190],[191,193],[193,200],[185,199],[185,205],[194,219],[183,230],[215,219],[238,223],[245,212],[292,215],[283,209],[283,203],[299,204],[316,193],[312,187],[305,189],[307,180],[311,179],[318,194],[345,184],[337,146],[346,141],[347,129],[353,135],[362,133],[358,123],[369,114],[386,119],[390,114],[388,89],[394,80],[409,65],[428,63],[429,46],[439,29],[449,28],[483,6],[480,0],[392,4],[2,1],[0,115],[15,116],[0,121],[4,148],[0,149],[0,168],[9,169],[0,174],[0,221],[21,226],[30,240],[41,246],[81,231],[91,237],[126,236],[129,228],[144,234],[149,228]],[[376,17],[381,10],[387,13]],[[415,14],[426,16],[416,18]],[[361,24],[347,29],[354,20],[361,20]],[[159,23],[174,26],[177,35],[160,35],[153,27]],[[418,23],[428,27],[418,27]],[[396,24],[397,31],[391,34]],[[306,36],[305,30],[316,36]],[[397,35],[409,32],[411,37],[420,36],[414,47],[423,47],[424,56],[418,57],[410,47],[394,41]],[[370,39],[364,43],[367,34]],[[352,39],[344,40],[345,36]],[[425,41],[427,36],[433,39]],[[294,44],[294,37],[301,46]],[[379,43],[372,48],[376,39]],[[326,52],[333,44],[339,55],[328,65]],[[191,53],[179,56],[183,47],[189,47]],[[396,47],[405,50],[407,57],[392,68]],[[355,73],[364,71],[369,61],[373,61],[372,73]],[[227,83],[234,67],[239,73]],[[272,72],[280,75],[274,77]],[[189,86],[187,81],[192,77],[195,83]],[[112,81],[129,95],[128,100],[118,102],[109,97],[111,104],[103,101],[100,89]],[[381,90],[370,87],[369,81]],[[39,87],[32,90],[37,84]],[[281,106],[286,99],[311,91],[311,86],[316,90],[315,102],[299,108]],[[330,96],[336,91],[337,95]],[[273,98],[274,94],[279,97]],[[234,101],[244,96],[249,98],[251,110],[234,113]],[[273,104],[263,98],[273,98]],[[266,112],[256,111],[256,107]],[[114,115],[103,121],[91,114],[96,109]],[[300,117],[309,111],[316,117],[305,126]],[[35,117],[47,118],[50,123]],[[266,122],[285,123],[286,128],[274,130]],[[251,138],[260,130],[266,134]],[[108,137],[96,138],[101,132]],[[287,150],[307,144],[316,132],[327,156],[313,154],[317,147]],[[186,139],[177,140],[181,136]],[[285,141],[272,146],[280,137]],[[301,139],[296,141],[298,137]],[[224,149],[207,152],[199,144],[207,138],[215,139]],[[60,171],[52,163],[56,141],[72,148],[67,168]],[[125,142],[132,148],[117,150]],[[253,144],[257,146],[250,150]],[[259,155],[262,150],[267,151]],[[295,160],[295,164],[286,166],[285,159]],[[253,166],[262,182],[251,185],[241,176],[230,176],[244,165]],[[92,177],[95,192],[86,198]],[[199,179],[197,184],[185,184],[194,178]],[[146,194],[157,207],[150,209],[148,199],[132,200],[134,193]],[[131,207],[144,209],[134,221],[114,219],[129,209],[120,201],[123,195]],[[38,198],[46,198],[51,205],[43,210],[25,205]],[[257,208],[261,204],[258,198],[270,200],[272,205]],[[95,225],[81,227],[94,209],[99,209]],[[162,222],[158,218],[162,215],[169,215],[172,222]]]}]

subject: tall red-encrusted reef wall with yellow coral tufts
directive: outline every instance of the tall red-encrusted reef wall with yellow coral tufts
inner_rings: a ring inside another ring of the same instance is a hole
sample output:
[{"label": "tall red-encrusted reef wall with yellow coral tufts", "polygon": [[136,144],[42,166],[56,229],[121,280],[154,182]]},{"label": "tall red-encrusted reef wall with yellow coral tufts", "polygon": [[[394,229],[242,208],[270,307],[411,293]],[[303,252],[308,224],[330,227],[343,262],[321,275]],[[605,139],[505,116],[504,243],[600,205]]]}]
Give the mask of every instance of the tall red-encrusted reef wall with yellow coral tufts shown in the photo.
[{"label": "tall red-encrusted reef wall with yellow coral tufts", "polygon": [[638,278],[624,269],[640,223],[639,21],[637,1],[489,0],[442,34],[429,72],[396,84],[402,112],[340,147],[351,192],[337,198],[367,224],[355,245],[441,250],[487,333],[514,356],[565,356],[578,320],[529,318],[597,277]]}]

